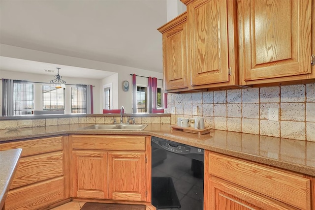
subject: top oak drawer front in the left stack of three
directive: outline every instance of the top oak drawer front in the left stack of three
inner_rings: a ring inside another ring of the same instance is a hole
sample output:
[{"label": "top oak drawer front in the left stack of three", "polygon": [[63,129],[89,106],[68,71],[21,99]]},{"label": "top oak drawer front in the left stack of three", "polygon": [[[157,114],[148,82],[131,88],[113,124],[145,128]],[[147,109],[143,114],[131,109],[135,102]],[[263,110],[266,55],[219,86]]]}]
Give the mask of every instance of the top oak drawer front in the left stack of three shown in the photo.
[{"label": "top oak drawer front in the left stack of three", "polygon": [[33,154],[41,154],[50,151],[58,151],[63,150],[62,146],[62,136],[49,137],[43,139],[34,139],[34,140],[25,140],[19,142],[9,142],[0,144],[0,150],[10,150],[21,148],[22,149],[22,157],[33,155]]}]

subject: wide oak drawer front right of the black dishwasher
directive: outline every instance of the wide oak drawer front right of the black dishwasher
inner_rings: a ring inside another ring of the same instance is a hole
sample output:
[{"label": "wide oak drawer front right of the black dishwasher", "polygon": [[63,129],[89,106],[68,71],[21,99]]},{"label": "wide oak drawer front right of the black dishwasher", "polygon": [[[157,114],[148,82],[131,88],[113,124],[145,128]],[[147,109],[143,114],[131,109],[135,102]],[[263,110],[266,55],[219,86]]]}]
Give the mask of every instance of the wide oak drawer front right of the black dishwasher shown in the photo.
[{"label": "wide oak drawer front right of the black dishwasher", "polygon": [[310,180],[219,154],[209,154],[209,174],[294,207],[311,207]]}]

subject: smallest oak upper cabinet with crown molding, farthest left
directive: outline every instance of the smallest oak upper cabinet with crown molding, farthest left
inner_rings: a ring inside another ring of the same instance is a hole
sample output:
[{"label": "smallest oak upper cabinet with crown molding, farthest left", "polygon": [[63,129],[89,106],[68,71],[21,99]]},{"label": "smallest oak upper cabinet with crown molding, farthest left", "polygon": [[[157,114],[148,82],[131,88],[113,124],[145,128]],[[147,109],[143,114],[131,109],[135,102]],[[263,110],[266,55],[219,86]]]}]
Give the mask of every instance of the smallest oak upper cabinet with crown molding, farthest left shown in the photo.
[{"label": "smallest oak upper cabinet with crown molding, farthest left", "polygon": [[158,28],[163,36],[164,90],[188,90],[186,22],[185,12]]}]

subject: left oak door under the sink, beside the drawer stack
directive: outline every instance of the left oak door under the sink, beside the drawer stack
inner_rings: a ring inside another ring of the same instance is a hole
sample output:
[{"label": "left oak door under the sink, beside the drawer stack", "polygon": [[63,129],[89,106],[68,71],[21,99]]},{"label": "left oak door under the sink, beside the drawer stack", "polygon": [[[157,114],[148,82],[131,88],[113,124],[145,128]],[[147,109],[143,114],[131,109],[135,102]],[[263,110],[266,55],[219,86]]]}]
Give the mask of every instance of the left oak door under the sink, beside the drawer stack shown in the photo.
[{"label": "left oak door under the sink, beside the drawer stack", "polygon": [[73,151],[74,197],[108,198],[107,153]]}]

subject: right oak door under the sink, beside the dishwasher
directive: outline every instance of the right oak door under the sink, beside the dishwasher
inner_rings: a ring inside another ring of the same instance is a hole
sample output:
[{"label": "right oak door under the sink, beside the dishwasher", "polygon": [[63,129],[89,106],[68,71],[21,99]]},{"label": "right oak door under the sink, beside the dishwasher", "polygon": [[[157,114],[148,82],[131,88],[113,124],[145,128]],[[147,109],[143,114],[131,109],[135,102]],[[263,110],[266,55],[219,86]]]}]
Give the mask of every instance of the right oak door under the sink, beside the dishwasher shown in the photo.
[{"label": "right oak door under the sink, beside the dishwasher", "polygon": [[146,201],[144,152],[109,152],[109,199]]}]

